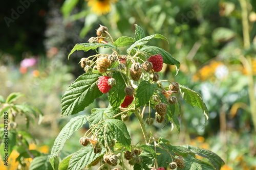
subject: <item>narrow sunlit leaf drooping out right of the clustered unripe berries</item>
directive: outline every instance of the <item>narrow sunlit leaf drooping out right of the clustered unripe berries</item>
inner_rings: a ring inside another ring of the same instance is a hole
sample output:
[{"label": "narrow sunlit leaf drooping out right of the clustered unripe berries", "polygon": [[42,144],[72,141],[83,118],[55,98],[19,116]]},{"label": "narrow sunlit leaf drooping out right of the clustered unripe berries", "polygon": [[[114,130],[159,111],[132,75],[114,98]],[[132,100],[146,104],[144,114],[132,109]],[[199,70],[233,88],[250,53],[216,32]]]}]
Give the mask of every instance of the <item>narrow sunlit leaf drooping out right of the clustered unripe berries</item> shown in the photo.
[{"label": "narrow sunlit leaf drooping out right of the clustered unripe berries", "polygon": [[197,106],[203,110],[206,123],[207,119],[209,118],[209,112],[201,94],[183,85],[180,85],[180,93],[184,101],[186,101],[189,105],[192,107]]}]

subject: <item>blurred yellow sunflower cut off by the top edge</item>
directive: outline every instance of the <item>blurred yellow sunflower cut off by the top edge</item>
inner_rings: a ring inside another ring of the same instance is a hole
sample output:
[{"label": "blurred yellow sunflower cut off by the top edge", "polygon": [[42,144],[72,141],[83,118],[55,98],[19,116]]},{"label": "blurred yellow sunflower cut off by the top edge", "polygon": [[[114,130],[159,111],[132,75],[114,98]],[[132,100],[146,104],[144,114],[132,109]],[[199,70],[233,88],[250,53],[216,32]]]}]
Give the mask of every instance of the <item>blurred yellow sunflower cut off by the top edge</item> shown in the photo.
[{"label": "blurred yellow sunflower cut off by the top edge", "polygon": [[111,11],[111,3],[115,3],[118,0],[86,0],[91,10],[98,15],[106,14]]}]

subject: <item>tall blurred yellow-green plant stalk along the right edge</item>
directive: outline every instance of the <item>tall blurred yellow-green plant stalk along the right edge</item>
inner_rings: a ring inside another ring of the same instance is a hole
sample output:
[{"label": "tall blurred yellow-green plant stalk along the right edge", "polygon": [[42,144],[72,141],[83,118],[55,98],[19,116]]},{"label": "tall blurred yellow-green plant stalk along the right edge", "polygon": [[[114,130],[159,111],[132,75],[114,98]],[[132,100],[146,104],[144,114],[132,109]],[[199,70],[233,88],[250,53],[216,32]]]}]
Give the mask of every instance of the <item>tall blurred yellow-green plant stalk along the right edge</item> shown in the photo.
[{"label": "tall blurred yellow-green plant stalk along the right edge", "polygon": [[[242,26],[243,26],[243,38],[244,38],[244,48],[247,49],[250,47],[250,34],[249,34],[249,21],[248,21],[248,1],[240,0],[240,5],[242,9]],[[248,70],[248,93],[250,100],[250,111],[252,116],[252,122],[254,129],[256,128],[256,99],[254,98],[254,82],[253,82],[253,72],[252,72],[252,61],[251,57],[246,56],[246,68]],[[255,129],[256,130],[256,129]]]}]

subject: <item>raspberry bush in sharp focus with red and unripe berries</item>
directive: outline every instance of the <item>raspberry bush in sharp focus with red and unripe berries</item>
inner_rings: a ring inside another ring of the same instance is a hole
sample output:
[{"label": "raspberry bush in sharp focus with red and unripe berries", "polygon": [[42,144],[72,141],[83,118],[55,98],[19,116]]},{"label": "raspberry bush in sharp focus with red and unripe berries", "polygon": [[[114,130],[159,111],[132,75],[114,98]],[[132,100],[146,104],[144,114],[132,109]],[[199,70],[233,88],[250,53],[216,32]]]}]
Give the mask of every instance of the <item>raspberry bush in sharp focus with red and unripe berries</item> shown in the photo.
[{"label": "raspberry bush in sharp focus with red and unripe berries", "polygon": [[[147,126],[154,122],[164,125],[172,122],[179,131],[177,96],[189,105],[201,108],[205,120],[208,118],[199,93],[178,82],[161,80],[157,72],[161,71],[163,63],[175,65],[177,74],[180,63],[162,48],[147,45],[153,38],[167,41],[160,34],[145,36],[137,25],[134,38],[122,36],[114,41],[108,28],[100,26],[97,37],[90,38],[89,43],[74,46],[70,55],[78,50],[87,52],[99,47],[110,48],[113,52],[81,59],[86,72],[62,96],[62,116],[77,114],[103,93],[108,93],[110,105],[92,109],[90,115],[79,115],[70,120],[55,139],[50,156],[52,167],[74,170],[89,169],[94,165],[98,165],[98,169],[122,170],[221,168],[224,162],[215,153],[192,145],[175,146],[163,137],[156,140],[147,131]],[[121,46],[130,46],[125,55],[119,50]],[[145,108],[154,112],[155,117],[146,114]],[[133,143],[124,123],[132,114],[137,117],[144,137],[137,144]],[[67,139],[87,122],[90,130],[77,139],[82,148],[56,165],[55,158]],[[206,159],[197,159],[196,155]]]}]

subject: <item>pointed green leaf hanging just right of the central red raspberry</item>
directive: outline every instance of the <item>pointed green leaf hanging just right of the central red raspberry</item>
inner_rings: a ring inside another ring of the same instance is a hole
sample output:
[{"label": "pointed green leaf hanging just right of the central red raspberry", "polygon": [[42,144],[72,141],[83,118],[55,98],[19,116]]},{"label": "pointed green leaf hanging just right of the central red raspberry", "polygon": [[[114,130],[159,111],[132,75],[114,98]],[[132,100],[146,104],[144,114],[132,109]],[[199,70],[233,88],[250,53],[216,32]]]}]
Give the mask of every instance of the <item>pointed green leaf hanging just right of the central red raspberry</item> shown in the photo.
[{"label": "pointed green leaf hanging just right of the central red raspberry", "polygon": [[151,84],[148,81],[142,81],[139,86],[136,94],[136,108],[145,105],[153,95],[154,91],[157,89],[157,84]]}]

